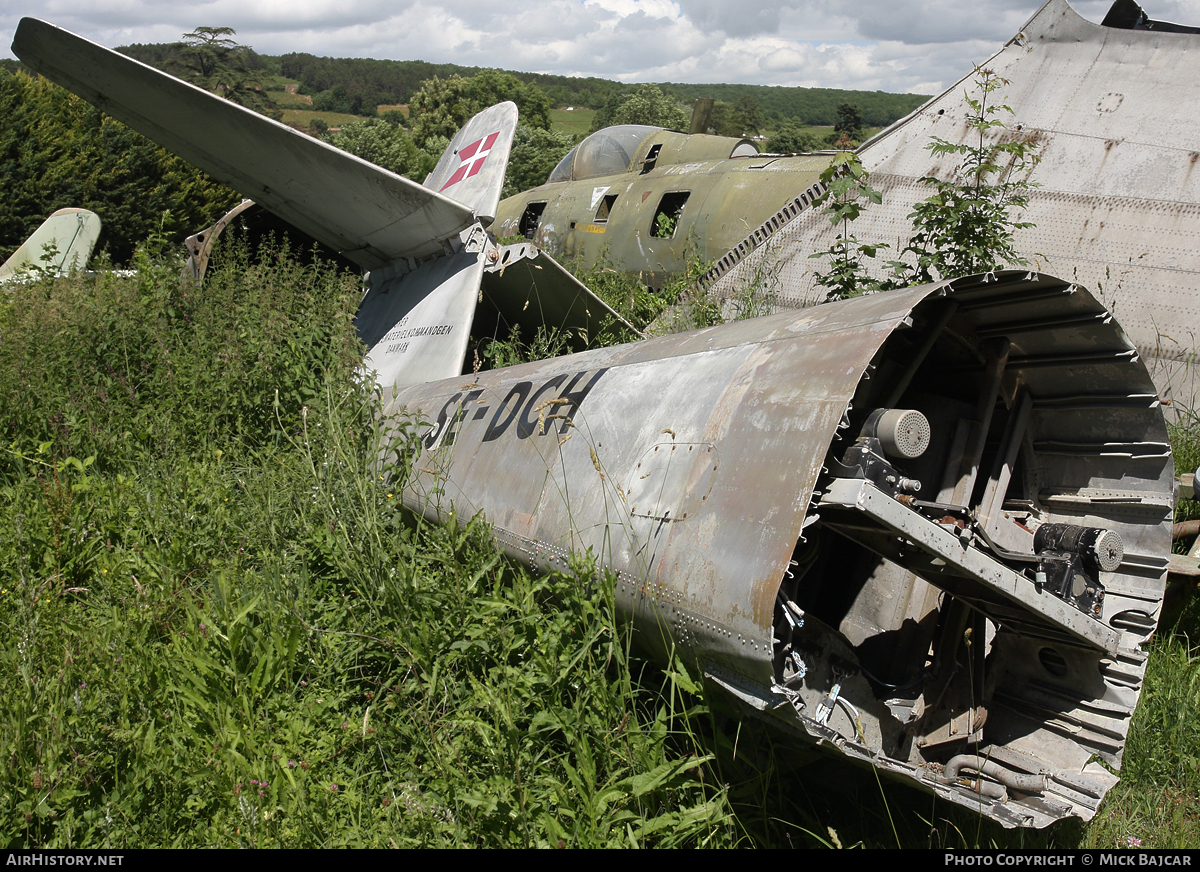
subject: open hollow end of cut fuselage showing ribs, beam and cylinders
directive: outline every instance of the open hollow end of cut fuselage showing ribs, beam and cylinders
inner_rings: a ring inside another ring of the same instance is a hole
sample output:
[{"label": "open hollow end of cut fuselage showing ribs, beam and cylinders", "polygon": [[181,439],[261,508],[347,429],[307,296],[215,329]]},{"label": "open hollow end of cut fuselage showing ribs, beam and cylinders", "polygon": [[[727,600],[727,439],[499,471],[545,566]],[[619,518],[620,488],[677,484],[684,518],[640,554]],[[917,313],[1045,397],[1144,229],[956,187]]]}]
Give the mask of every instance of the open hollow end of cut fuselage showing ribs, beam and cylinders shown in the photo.
[{"label": "open hollow end of cut fuselage showing ribs, beam and cylinders", "polygon": [[1016,291],[931,300],[881,347],[779,588],[775,691],[851,756],[1044,825],[1116,782],[1092,760],[1120,765],[1174,471],[1103,308]]}]

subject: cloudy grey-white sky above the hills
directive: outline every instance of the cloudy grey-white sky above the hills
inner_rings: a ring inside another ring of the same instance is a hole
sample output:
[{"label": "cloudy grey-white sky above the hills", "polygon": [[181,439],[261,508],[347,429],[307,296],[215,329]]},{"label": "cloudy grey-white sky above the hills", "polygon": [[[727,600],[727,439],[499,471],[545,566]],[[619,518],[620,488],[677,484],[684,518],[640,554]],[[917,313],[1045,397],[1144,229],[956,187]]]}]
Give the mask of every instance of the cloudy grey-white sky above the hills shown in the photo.
[{"label": "cloudy grey-white sky above the hills", "polygon": [[[1110,0],[1075,0],[1099,22]],[[1200,0],[1141,0],[1200,24]],[[936,94],[1015,34],[1040,0],[11,0],[103,46],[230,26],[263,54],[392,58],[600,76]]]}]

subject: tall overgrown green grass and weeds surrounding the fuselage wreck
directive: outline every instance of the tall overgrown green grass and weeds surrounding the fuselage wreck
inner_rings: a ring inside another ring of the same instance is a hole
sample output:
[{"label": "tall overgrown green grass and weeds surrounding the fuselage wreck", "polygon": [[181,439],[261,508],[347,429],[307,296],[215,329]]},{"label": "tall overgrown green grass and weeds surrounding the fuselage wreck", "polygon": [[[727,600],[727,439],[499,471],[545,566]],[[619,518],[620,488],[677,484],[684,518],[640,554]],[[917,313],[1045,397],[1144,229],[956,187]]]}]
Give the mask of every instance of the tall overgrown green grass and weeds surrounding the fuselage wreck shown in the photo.
[{"label": "tall overgrown green grass and weeds surrounding the fuselage wreck", "polygon": [[[796,771],[685,667],[630,654],[586,555],[534,578],[481,519],[398,507],[412,425],[384,455],[353,278],[232,255],[199,289],[139,264],[0,301],[5,843],[1200,841],[1190,642],[1154,643],[1090,826],[1006,831],[840,760]],[[587,281],[640,325],[740,311]],[[536,342],[493,363],[552,353]]]}]

